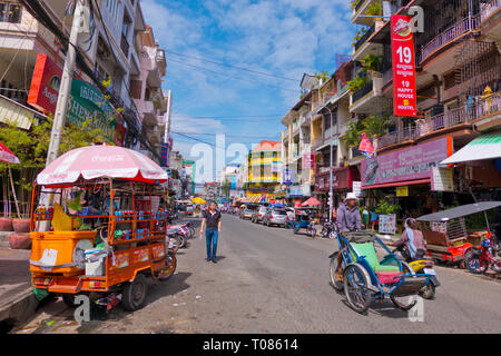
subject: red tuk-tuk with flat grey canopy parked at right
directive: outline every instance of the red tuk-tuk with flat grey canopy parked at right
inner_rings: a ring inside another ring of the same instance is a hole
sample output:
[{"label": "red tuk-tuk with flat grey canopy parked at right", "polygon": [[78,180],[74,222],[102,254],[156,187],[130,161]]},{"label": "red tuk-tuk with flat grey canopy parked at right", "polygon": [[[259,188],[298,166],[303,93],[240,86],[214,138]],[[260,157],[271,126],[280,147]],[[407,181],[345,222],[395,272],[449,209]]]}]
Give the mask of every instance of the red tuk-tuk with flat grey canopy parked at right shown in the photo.
[{"label": "red tuk-tuk with flat grey canopy parked at right", "polygon": [[[419,217],[426,240],[426,254],[438,261],[462,264],[465,254],[477,245],[479,234],[469,234],[464,217],[501,206],[501,201],[482,201]],[[485,229],[490,230],[485,217]]]}]

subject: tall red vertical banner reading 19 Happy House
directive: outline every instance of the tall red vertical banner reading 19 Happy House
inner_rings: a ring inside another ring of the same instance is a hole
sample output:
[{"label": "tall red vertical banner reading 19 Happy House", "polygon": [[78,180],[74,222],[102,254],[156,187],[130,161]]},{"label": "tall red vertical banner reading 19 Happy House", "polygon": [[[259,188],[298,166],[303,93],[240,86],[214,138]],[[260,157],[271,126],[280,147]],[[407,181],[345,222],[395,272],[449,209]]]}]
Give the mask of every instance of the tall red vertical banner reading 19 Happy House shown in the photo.
[{"label": "tall red vertical banner reading 19 Happy House", "polygon": [[416,117],[415,51],[410,16],[393,14],[393,115]]}]

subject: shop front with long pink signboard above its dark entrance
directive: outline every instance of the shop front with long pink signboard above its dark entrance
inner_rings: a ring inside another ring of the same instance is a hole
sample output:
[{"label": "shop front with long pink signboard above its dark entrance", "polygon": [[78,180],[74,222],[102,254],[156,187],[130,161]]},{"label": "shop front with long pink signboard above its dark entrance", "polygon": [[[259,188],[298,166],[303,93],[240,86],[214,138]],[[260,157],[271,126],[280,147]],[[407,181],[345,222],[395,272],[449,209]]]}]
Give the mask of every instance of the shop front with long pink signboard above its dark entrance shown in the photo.
[{"label": "shop front with long pink signboard above its dark entrance", "polygon": [[404,217],[435,212],[441,205],[452,204],[452,170],[451,175],[436,174],[439,164],[452,155],[452,138],[445,137],[362,161],[366,205],[372,210],[384,199],[399,205],[402,225]]}]

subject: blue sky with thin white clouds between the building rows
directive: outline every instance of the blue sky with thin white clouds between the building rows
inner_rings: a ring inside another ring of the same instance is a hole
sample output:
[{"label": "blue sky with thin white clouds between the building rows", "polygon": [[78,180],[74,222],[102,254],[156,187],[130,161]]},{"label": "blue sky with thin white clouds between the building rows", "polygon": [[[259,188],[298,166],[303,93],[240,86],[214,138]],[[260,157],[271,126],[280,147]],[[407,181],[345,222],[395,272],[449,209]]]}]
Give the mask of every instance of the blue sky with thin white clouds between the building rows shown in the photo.
[{"label": "blue sky with thin white clouds between the building rows", "polygon": [[[226,146],[240,142],[250,148],[261,139],[279,140],[285,129],[281,118],[298,100],[303,73],[334,71],[335,55],[350,53],[355,34],[347,0],[143,0],[141,4],[146,22],[167,50],[164,88],[173,90],[173,131],[213,145],[216,134],[226,135]],[[173,137],[174,149],[190,158],[197,141]]]}]

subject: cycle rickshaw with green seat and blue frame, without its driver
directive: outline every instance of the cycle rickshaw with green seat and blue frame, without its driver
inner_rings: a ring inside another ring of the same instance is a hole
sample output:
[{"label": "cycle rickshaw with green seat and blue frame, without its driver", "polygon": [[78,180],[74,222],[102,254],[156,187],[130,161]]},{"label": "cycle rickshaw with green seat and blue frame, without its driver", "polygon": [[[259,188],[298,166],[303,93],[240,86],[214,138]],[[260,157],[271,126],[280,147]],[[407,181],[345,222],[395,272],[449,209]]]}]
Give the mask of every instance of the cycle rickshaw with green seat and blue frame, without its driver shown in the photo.
[{"label": "cycle rickshaw with green seat and blue frame, without its driver", "polygon": [[[336,290],[344,290],[355,312],[363,314],[372,300],[385,297],[399,309],[410,310],[414,307],[416,300],[410,296],[418,295],[432,275],[415,274],[374,233],[333,234],[340,250],[330,256],[331,280]],[[381,260],[376,246],[385,253]]]}]

